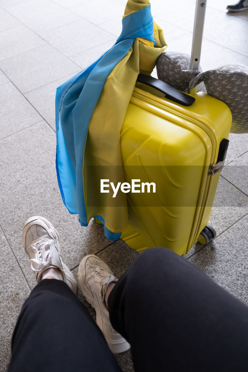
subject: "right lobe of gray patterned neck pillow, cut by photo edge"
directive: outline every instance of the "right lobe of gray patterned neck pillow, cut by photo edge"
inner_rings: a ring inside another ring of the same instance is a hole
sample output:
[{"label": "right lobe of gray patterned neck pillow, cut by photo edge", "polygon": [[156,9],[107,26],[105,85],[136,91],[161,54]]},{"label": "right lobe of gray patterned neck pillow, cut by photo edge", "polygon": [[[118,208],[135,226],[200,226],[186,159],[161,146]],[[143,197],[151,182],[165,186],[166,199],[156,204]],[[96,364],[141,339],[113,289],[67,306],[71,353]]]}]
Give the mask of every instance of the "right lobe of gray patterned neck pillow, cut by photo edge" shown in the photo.
[{"label": "right lobe of gray patterned neck pillow, cut by photo edge", "polygon": [[222,100],[232,112],[231,133],[248,133],[248,66],[231,63],[199,73],[189,87],[204,82],[207,94]]}]

